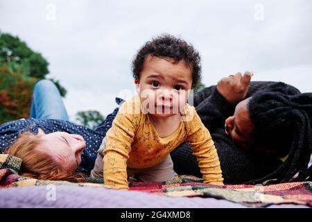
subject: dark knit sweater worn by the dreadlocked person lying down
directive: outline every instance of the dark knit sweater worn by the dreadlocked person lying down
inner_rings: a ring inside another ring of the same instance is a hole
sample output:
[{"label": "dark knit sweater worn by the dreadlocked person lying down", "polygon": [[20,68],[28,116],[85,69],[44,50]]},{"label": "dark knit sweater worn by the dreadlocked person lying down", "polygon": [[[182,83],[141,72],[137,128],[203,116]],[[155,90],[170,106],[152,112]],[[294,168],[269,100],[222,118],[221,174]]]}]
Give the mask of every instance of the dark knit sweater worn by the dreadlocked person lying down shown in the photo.
[{"label": "dark knit sweater worn by the dreadlocked person lying down", "polygon": [[[251,82],[247,96],[252,96],[254,92],[270,84],[272,82]],[[215,85],[196,93],[194,106],[214,140],[226,184],[239,184],[262,178],[281,164],[281,160],[277,158],[247,153],[234,144],[232,138],[225,133],[225,119],[234,114],[236,104],[229,103]],[[180,145],[171,153],[171,157],[178,174],[202,177],[189,144]]]}]

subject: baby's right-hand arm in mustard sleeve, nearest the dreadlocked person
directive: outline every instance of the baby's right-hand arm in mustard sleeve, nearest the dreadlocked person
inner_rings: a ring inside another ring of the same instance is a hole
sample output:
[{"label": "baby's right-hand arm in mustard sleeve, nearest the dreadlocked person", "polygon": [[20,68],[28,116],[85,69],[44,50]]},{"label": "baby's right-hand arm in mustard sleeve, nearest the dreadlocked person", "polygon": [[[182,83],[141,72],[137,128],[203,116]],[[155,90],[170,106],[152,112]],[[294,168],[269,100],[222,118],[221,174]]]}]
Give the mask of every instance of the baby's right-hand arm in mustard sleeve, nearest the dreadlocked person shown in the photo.
[{"label": "baby's right-hand arm in mustard sleeve, nearest the dreadlocked person", "polygon": [[211,135],[194,108],[191,112],[193,112],[193,119],[189,121],[187,142],[191,144],[193,153],[197,157],[202,178],[204,182],[214,185],[223,185],[223,176],[218,153],[216,152],[216,147],[211,139]]}]

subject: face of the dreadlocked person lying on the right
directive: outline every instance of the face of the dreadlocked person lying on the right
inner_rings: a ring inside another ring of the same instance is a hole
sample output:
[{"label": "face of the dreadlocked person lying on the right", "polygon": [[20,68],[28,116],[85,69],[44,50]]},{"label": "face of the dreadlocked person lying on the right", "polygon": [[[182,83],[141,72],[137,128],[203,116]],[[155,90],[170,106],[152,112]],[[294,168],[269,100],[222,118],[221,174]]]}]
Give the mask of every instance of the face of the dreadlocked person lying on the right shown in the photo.
[{"label": "face of the dreadlocked person lying on the right", "polygon": [[248,150],[253,142],[254,124],[250,120],[248,111],[249,100],[250,98],[237,104],[233,116],[225,120],[225,133],[244,150]]}]

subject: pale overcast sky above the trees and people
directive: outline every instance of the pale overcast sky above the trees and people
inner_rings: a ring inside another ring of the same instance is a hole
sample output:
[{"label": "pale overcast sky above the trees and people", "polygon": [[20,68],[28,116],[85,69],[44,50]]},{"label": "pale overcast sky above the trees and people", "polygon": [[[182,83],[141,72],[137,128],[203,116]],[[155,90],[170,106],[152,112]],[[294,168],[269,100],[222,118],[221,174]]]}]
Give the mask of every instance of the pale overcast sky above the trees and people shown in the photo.
[{"label": "pale overcast sky above the trees and people", "polygon": [[312,92],[312,1],[0,0],[0,28],[49,61],[67,89],[69,116],[133,92],[131,62],[152,37],[171,33],[202,56],[202,83],[238,71]]}]

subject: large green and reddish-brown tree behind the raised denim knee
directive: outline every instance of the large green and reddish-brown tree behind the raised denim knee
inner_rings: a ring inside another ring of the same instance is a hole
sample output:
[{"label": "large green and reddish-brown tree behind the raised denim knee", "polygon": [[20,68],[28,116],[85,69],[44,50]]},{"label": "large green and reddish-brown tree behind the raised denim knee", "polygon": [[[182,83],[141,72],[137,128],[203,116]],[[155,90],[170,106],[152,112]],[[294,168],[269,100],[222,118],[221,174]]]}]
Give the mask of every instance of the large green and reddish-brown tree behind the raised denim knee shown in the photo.
[{"label": "large green and reddish-brown tree behind the raised denim knee", "polygon": [[[48,65],[19,37],[0,33],[0,123],[29,117],[33,87],[49,74]],[[65,96],[59,80],[52,81]]]}]

